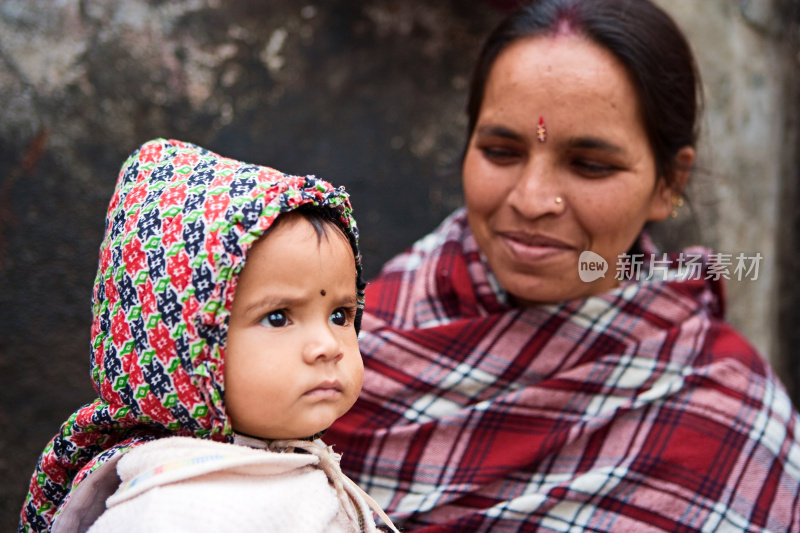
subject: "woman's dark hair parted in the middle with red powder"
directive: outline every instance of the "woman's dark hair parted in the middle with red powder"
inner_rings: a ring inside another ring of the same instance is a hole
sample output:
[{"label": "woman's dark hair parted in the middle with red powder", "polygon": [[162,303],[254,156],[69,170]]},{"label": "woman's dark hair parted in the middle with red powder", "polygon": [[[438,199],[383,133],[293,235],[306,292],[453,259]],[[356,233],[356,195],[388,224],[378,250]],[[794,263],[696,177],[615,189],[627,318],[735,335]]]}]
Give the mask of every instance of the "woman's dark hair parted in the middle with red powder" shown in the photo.
[{"label": "woman's dark hair parted in the middle with red powder", "polygon": [[565,31],[586,36],[625,67],[639,96],[656,171],[670,180],[678,150],[697,142],[702,85],[683,33],[650,0],[535,0],[512,13],[489,35],[473,72],[467,143],[503,50],[519,39]]}]

